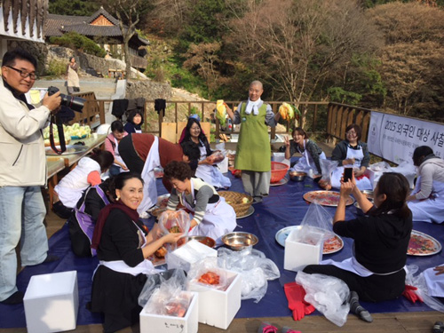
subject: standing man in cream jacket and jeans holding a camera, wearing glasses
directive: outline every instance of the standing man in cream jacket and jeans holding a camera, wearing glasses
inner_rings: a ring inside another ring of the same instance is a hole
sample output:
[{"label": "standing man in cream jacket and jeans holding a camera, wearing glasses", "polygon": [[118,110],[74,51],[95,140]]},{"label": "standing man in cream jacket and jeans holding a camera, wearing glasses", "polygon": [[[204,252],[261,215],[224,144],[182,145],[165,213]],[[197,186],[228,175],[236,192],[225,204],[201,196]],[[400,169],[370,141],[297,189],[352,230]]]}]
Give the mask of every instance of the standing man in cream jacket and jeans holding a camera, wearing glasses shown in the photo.
[{"label": "standing man in cream jacket and jeans holding a camera, wearing glasses", "polygon": [[[42,129],[60,106],[59,92],[42,107],[24,94],[36,81],[36,59],[16,49],[4,54],[0,79],[0,302],[18,304],[15,248],[20,240],[22,266],[52,261],[44,228],[46,210],[40,186],[46,183]],[[22,227],[23,226],[23,227]]]}]

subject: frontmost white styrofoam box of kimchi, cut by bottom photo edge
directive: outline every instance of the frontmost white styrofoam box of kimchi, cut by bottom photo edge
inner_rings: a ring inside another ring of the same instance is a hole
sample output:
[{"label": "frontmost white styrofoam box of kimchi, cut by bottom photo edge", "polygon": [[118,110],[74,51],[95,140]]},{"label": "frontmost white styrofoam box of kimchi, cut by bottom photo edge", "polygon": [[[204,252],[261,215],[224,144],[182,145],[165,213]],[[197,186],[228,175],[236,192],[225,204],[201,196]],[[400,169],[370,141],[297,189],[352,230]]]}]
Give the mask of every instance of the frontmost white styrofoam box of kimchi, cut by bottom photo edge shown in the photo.
[{"label": "frontmost white styrofoam box of kimchi, cut by bottom photo edge", "polygon": [[140,333],[195,333],[199,328],[199,302],[198,294],[191,291],[184,291],[192,294],[190,305],[184,317],[172,317],[168,315],[147,313],[147,305],[140,312]]}]

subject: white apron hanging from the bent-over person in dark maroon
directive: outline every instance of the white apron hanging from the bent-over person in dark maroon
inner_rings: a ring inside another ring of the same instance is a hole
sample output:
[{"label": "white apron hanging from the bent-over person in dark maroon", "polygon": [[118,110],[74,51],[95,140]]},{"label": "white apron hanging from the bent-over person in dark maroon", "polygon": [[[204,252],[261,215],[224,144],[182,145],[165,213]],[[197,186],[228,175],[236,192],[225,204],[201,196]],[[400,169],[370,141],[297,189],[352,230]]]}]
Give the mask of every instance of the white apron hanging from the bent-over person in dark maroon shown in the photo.
[{"label": "white apron hanging from the bent-over person in dark maroon", "polygon": [[140,202],[139,214],[147,211],[157,202],[157,188],[155,187],[155,168],[161,166],[161,157],[159,156],[159,138],[155,136],[153,145],[149,149],[147,161],[143,166],[141,177],[144,181],[143,200]]}]

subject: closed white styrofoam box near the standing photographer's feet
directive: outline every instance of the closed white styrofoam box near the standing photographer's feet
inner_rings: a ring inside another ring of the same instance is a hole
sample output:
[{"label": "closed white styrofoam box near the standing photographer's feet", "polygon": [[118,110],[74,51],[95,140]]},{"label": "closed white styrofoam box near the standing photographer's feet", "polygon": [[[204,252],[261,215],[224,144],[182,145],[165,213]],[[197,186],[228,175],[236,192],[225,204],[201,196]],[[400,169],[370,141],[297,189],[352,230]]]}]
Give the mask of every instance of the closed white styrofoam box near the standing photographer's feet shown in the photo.
[{"label": "closed white styrofoam box near the standing photographer's feet", "polygon": [[79,308],[77,272],[32,276],[23,303],[28,333],[75,329]]}]

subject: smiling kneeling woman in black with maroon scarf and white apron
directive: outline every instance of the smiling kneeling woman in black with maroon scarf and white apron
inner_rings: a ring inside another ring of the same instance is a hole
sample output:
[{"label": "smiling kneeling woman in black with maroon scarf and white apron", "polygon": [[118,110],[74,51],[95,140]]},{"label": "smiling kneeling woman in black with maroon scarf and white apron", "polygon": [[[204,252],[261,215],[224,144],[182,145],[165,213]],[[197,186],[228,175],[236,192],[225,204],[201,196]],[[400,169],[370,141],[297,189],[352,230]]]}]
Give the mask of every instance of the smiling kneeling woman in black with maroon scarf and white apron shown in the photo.
[{"label": "smiling kneeling woman in black with maroon scarf and white apron", "polygon": [[92,312],[104,313],[103,329],[115,332],[139,321],[138,304],[147,275],[155,272],[147,257],[166,242],[177,242],[181,234],[157,239],[157,228],[147,234],[137,208],[143,198],[143,181],[138,174],[115,177],[115,202],[100,211],[92,237],[99,266],[92,281]]}]

